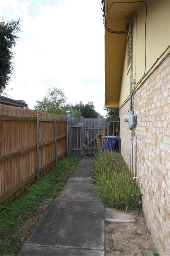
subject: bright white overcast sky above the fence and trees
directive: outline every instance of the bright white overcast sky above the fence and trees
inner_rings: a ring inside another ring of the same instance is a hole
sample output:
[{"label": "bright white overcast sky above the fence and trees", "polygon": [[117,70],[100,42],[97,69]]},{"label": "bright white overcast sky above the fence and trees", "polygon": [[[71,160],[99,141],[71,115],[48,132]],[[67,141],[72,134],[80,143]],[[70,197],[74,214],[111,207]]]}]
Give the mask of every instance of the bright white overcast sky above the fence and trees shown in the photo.
[{"label": "bright white overcast sky above the fence and trees", "polygon": [[1,0],[0,16],[21,19],[9,97],[33,109],[48,87],[69,103],[104,107],[104,26],[100,0]]}]

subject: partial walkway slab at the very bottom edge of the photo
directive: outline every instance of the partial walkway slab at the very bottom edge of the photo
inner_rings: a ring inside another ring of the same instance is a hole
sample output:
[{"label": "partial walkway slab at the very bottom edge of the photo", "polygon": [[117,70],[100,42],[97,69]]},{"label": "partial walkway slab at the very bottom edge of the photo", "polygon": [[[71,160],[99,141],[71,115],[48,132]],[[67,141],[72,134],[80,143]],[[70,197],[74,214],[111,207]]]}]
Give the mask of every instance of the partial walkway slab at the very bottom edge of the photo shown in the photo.
[{"label": "partial walkway slab at the very bottom edge of the photo", "polygon": [[26,245],[24,250],[20,252],[19,255],[75,255],[75,256],[104,256],[104,251],[101,250],[84,250],[84,249],[73,249],[64,247],[45,247],[36,245]]}]

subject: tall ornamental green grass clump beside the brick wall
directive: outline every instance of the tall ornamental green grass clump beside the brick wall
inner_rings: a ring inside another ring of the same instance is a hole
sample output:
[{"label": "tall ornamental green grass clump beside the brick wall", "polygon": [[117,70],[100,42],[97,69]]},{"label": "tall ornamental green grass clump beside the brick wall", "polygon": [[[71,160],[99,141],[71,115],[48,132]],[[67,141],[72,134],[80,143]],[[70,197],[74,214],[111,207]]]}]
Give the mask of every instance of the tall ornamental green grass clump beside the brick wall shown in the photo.
[{"label": "tall ornamental green grass clump beside the brick wall", "polygon": [[137,207],[138,197],[131,194],[140,193],[140,189],[119,152],[100,151],[92,171],[96,190],[104,206],[123,209]]}]

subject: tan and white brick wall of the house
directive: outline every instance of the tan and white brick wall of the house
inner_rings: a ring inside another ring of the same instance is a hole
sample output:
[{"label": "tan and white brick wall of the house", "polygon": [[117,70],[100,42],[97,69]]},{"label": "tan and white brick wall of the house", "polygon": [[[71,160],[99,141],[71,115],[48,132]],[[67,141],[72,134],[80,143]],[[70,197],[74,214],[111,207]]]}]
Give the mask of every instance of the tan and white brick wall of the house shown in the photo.
[{"label": "tan and white brick wall of the house", "polygon": [[[130,102],[120,108],[121,154],[129,165],[130,131],[124,122]],[[170,57],[134,94],[137,115],[137,176],[143,211],[160,255],[170,255]],[[134,137],[135,172],[135,137]]]}]

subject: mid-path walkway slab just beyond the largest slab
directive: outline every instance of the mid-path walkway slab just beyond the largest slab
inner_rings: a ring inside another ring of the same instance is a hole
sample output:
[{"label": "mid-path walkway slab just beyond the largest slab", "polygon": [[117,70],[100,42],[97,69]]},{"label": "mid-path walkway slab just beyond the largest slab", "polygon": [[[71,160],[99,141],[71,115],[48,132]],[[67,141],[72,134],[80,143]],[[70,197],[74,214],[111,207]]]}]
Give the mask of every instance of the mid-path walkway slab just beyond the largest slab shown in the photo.
[{"label": "mid-path walkway slab just beyond the largest slab", "polygon": [[97,201],[92,180],[69,180],[57,200]]}]

